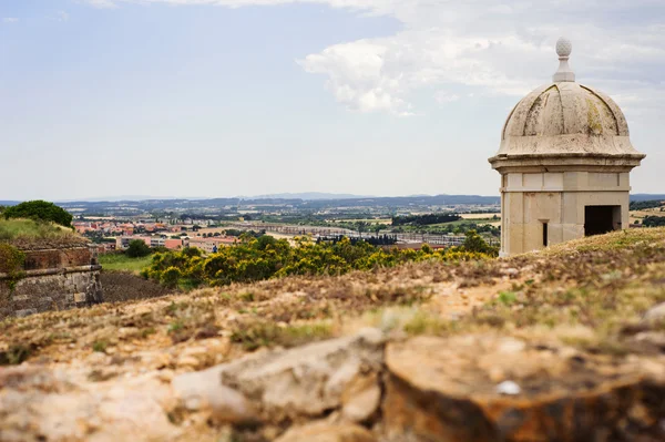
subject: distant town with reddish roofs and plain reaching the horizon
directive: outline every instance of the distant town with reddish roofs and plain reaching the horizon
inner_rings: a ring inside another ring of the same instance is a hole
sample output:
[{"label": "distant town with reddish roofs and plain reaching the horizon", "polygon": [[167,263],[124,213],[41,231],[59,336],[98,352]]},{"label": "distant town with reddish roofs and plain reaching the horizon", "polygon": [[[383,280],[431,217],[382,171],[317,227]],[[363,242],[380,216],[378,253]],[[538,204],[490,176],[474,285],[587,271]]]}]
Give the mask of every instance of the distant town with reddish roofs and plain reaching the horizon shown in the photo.
[{"label": "distant town with reddish roofs and plain reaching the horizon", "polygon": [[[659,197],[665,199],[663,195],[634,195],[632,201]],[[98,244],[102,253],[124,250],[134,239],[152,248],[197,247],[214,253],[233,245],[245,232],[278,238],[347,236],[412,248],[459,245],[471,229],[492,245],[501,236],[500,198],[491,196],[146,199],[60,205],[74,215],[76,232]]]}]

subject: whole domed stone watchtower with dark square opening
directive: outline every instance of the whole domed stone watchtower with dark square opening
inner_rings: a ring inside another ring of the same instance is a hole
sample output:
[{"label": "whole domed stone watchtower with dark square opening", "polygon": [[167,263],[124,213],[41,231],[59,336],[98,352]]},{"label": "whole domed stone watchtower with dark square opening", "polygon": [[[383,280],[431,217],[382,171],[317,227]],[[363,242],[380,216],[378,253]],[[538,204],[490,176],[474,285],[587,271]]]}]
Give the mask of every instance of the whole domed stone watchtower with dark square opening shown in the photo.
[{"label": "whole domed stone watchtower with dark square opening", "polygon": [[628,174],[645,155],[616,103],[575,82],[571,51],[556,42],[553,82],[512,110],[489,160],[501,174],[502,256],[628,227]]}]

